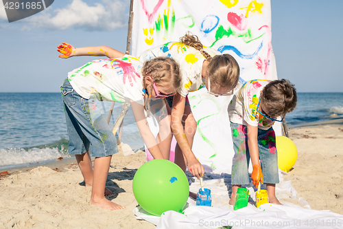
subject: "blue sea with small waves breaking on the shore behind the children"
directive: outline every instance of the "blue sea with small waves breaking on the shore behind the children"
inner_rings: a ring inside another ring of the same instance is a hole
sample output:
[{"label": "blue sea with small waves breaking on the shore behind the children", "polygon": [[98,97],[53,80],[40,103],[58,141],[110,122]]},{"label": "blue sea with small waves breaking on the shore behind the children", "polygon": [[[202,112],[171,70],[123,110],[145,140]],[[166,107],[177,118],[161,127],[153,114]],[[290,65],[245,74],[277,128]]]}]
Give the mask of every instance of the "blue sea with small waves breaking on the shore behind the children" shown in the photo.
[{"label": "blue sea with small waves breaking on the shore behind the children", "polygon": [[[106,118],[111,104],[97,103]],[[121,103],[116,102],[110,127],[120,111]],[[343,118],[343,93],[298,93],[298,105],[287,114],[286,123],[292,128],[335,118]],[[132,149],[144,146],[131,109],[121,141]],[[0,170],[66,160],[71,158],[68,144],[60,93],[0,93]]]}]

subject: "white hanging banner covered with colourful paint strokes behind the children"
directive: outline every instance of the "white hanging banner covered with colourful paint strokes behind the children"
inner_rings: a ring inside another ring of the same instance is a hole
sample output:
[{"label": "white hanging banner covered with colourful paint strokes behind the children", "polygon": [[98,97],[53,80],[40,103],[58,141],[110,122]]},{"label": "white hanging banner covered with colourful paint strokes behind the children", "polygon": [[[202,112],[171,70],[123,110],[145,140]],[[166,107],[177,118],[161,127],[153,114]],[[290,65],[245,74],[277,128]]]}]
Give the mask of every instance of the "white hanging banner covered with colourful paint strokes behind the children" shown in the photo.
[{"label": "white hanging banner covered with colourful paint strokes behind the children", "polygon": [[[232,55],[239,63],[244,80],[277,78],[270,0],[134,1],[133,56],[169,41],[179,41],[187,31],[197,35],[206,47]],[[204,91],[189,96],[199,125],[193,152],[209,170],[228,172],[233,156],[226,111],[230,99],[211,96],[209,100]],[[217,104],[221,107],[219,113]]]}]

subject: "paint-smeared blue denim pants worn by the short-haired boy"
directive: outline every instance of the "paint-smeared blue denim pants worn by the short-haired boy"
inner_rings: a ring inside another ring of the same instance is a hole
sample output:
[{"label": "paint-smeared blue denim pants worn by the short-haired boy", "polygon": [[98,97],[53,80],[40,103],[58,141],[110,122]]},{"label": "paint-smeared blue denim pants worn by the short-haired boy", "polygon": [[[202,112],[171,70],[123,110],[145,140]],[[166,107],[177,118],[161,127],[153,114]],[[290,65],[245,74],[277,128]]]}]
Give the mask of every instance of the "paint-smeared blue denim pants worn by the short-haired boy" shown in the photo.
[{"label": "paint-smeared blue denim pants worn by the short-haired boy", "polygon": [[[235,151],[231,171],[231,184],[250,184],[248,173],[250,154],[247,127],[233,122],[230,122],[230,126]],[[257,144],[259,146],[263,183],[278,184],[279,168],[274,129],[270,127],[268,130],[259,129],[258,131]]]}]

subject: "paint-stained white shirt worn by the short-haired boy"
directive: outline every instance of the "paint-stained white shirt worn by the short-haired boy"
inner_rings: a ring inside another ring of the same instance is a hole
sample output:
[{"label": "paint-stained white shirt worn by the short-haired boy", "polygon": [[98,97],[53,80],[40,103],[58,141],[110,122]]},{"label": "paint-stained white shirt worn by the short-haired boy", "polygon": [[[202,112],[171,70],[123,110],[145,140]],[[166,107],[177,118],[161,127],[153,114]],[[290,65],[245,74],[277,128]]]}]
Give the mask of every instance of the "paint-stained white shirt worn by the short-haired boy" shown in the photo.
[{"label": "paint-stained white shirt worn by the short-haired boy", "polygon": [[274,121],[265,118],[257,112],[260,93],[270,80],[250,80],[239,89],[228,105],[228,118],[230,122],[250,124],[259,129],[269,129]]}]

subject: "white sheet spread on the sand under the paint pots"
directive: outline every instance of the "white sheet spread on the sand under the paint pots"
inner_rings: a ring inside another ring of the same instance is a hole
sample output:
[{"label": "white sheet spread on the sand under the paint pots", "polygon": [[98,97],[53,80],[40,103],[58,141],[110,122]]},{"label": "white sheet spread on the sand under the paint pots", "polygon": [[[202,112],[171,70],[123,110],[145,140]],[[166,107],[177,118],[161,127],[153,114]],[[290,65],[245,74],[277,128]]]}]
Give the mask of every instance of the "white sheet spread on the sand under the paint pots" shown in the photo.
[{"label": "white sheet spread on the sand under the paint pots", "polygon": [[[156,228],[343,228],[343,215],[329,210],[311,210],[307,201],[298,197],[292,183],[285,181],[283,175],[287,173],[279,170],[281,182],[276,184],[276,197],[295,199],[298,204],[281,200],[283,206],[263,204],[256,208],[255,189],[250,184],[246,186],[250,193],[248,206],[233,210],[233,206],[228,204],[230,175],[211,174],[205,175],[204,187],[211,189],[213,207],[196,206],[196,201],[189,198],[183,214],[169,210],[161,217],[156,217],[140,206],[134,208],[133,212],[137,219],[149,221]],[[198,179],[189,178],[189,182],[189,190],[198,193]]]}]

